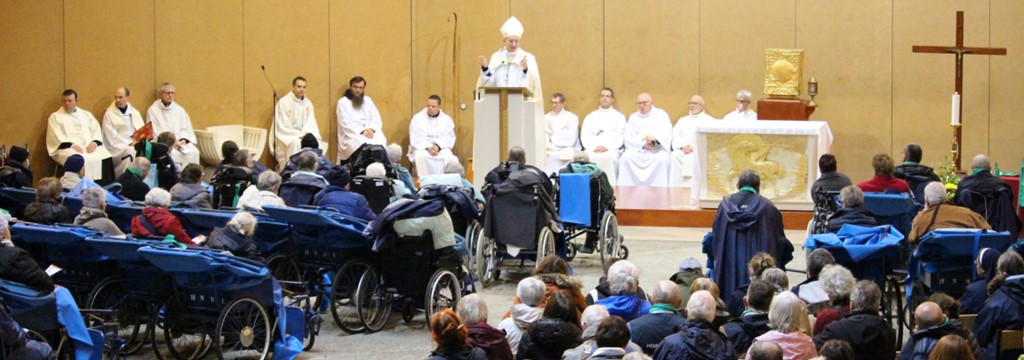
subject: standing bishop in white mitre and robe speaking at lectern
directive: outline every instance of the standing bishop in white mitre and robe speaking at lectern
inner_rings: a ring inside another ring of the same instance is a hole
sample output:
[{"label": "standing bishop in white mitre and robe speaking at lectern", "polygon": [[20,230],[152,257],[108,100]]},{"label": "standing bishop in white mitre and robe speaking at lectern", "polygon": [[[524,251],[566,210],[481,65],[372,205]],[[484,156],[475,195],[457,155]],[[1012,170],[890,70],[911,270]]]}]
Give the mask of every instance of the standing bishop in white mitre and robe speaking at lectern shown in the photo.
[{"label": "standing bishop in white mitre and robe speaking at lectern", "polygon": [[530,91],[526,100],[544,99],[541,92],[541,70],[537,66],[537,57],[519,48],[522,39],[522,22],[515,16],[509,17],[502,25],[502,42],[504,46],[490,55],[490,59],[480,55],[480,78],[476,87],[523,87]]}]

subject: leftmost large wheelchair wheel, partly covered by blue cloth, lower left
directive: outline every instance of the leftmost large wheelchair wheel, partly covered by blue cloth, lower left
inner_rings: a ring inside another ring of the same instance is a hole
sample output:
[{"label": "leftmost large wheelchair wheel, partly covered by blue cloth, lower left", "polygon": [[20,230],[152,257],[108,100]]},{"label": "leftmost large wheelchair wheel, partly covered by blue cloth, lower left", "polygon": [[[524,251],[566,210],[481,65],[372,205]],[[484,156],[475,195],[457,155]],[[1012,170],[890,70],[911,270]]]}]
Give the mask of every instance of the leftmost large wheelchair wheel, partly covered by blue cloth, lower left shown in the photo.
[{"label": "leftmost large wheelchair wheel, partly covered by blue cloth, lower left", "polygon": [[150,305],[131,298],[118,279],[101,281],[86,302],[87,309],[113,310],[118,323],[118,338],[125,341],[125,353],[134,354],[145,346],[150,334]]}]

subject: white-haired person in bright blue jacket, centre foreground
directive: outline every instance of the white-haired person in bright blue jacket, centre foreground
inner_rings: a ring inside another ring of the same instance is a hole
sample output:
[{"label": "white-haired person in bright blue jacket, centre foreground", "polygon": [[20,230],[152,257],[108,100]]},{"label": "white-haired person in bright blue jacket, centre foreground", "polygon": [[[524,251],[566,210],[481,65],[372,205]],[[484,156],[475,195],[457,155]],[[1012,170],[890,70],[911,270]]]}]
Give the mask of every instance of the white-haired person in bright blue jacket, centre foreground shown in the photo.
[{"label": "white-haired person in bright blue jacket, centre foreground", "polygon": [[632,321],[650,311],[650,303],[640,297],[637,286],[640,283],[640,269],[628,260],[620,260],[608,268],[608,289],[611,296],[598,300],[595,304],[604,305],[608,313],[620,316],[626,321]]}]

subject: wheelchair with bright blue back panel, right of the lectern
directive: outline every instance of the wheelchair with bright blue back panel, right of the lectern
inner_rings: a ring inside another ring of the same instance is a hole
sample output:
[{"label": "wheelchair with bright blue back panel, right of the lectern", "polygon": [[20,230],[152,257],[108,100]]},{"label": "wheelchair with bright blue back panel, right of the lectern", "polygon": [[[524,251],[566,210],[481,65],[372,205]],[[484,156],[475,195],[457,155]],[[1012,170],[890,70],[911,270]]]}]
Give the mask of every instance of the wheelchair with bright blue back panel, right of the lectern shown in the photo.
[{"label": "wheelchair with bright blue back panel, right of the lectern", "polygon": [[605,205],[598,179],[589,174],[561,174],[554,179],[558,186],[558,216],[564,225],[559,235],[567,242],[566,258],[571,261],[582,248],[573,241],[580,235],[597,236],[602,264],[612,258],[628,258],[630,251],[618,233],[614,202]]}]

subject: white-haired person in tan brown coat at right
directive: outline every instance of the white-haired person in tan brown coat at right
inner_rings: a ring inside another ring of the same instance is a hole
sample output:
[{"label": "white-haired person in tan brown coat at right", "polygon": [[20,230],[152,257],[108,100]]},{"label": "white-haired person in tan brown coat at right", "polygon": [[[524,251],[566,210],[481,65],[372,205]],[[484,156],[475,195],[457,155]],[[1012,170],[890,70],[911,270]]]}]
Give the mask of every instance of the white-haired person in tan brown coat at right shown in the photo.
[{"label": "white-haired person in tan brown coat at right", "polygon": [[946,201],[945,185],[933,181],[925,186],[925,210],[913,218],[907,239],[916,244],[930,231],[945,228],[991,230],[992,226],[971,209]]}]

